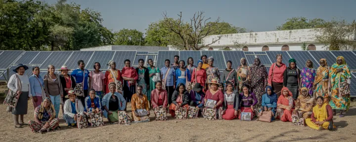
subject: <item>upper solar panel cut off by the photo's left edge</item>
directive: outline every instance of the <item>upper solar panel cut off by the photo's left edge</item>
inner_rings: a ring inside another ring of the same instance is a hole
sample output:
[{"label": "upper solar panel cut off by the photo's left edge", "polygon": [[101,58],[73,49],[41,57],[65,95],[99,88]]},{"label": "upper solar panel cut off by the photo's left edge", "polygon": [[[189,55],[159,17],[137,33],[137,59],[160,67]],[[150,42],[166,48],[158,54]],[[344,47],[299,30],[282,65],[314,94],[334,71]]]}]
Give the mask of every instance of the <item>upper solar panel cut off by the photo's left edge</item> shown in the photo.
[{"label": "upper solar panel cut off by the photo's left edge", "polygon": [[0,55],[0,69],[7,69],[24,51],[3,51]]}]

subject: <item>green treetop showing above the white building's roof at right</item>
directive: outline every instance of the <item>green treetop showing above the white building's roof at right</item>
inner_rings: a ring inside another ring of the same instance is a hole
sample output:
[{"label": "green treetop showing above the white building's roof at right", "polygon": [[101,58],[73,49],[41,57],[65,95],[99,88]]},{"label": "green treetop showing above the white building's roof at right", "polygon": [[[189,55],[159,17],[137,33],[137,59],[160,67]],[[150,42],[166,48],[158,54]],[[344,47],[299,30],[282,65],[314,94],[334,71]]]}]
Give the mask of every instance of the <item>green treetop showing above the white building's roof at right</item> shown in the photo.
[{"label": "green treetop showing above the white building's roof at right", "polygon": [[277,26],[276,30],[298,30],[321,28],[325,24],[325,20],[320,18],[307,19],[306,17],[292,17],[286,20],[287,22],[281,26]]}]

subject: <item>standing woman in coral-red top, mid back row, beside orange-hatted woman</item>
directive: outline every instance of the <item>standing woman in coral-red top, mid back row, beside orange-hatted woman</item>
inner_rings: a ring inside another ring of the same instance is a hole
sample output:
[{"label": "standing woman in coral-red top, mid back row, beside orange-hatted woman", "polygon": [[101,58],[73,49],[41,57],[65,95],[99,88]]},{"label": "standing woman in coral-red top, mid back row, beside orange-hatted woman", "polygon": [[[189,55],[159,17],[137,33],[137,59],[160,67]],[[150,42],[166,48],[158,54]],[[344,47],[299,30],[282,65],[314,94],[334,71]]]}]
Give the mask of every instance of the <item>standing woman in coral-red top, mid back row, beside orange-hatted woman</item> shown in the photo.
[{"label": "standing woman in coral-red top, mid back row, beside orange-hatted woman", "polygon": [[203,66],[203,61],[199,60],[198,67],[194,69],[190,80],[192,83],[199,83],[201,86],[203,86],[203,92],[205,92],[206,91],[205,82],[207,77],[206,77],[206,71],[205,69],[202,68],[202,66]]}]

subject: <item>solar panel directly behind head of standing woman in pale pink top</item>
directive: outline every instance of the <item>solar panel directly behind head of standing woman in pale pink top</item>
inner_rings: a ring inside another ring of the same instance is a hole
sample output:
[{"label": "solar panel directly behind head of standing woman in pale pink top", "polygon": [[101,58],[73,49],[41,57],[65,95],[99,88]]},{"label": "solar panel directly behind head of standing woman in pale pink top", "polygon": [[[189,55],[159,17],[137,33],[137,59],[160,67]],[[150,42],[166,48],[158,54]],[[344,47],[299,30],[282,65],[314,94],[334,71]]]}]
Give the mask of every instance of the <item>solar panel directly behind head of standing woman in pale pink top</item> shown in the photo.
[{"label": "solar panel directly behind head of standing woman in pale pink top", "polygon": [[113,58],[114,53],[115,51],[94,51],[93,56],[86,65],[86,68],[91,69],[90,67],[93,67],[95,62],[99,62],[101,66],[100,70],[106,71],[106,69],[109,68],[106,64]]}]

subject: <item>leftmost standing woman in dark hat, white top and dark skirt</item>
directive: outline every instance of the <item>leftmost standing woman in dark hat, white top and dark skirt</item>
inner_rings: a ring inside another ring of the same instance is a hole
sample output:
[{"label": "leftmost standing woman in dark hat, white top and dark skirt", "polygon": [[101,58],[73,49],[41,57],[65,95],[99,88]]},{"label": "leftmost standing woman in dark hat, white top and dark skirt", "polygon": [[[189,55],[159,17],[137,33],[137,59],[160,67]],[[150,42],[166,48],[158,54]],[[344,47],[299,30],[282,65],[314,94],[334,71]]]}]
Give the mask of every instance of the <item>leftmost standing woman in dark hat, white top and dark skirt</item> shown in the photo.
[{"label": "leftmost standing woman in dark hat, white top and dark skirt", "polygon": [[[22,64],[18,64],[16,69],[12,70],[16,72],[11,75],[9,81],[7,82],[7,87],[19,94],[19,98],[17,100],[17,105],[15,108],[12,108],[12,117],[15,123],[16,128],[22,128],[22,126],[28,125],[24,123],[23,116],[27,114],[27,100],[30,99],[31,88],[30,81],[25,74],[25,71],[28,70],[28,67]],[[11,102],[12,100],[5,98],[5,102]],[[20,122],[19,122],[20,118]]]}]

